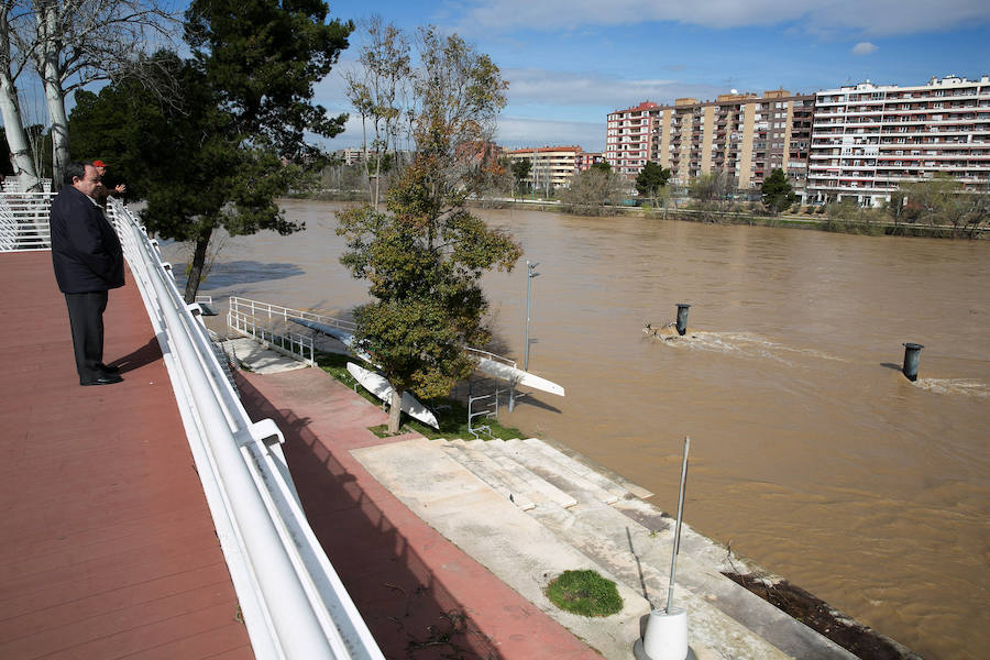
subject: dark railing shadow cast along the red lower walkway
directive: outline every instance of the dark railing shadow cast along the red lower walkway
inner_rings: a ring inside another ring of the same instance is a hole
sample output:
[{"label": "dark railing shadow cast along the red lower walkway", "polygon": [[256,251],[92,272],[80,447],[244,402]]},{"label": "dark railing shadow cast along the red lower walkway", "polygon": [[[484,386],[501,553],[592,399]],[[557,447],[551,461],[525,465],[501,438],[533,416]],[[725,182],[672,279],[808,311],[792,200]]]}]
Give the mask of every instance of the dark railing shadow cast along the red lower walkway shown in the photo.
[{"label": "dark railing shadow cast along the red lower walkway", "polygon": [[282,429],[310,526],[385,656],[502,659],[471,613],[367,495],[349,451],[328,449],[310,430],[309,418],[276,409],[240,374],[238,387],[253,419],[271,417]]}]

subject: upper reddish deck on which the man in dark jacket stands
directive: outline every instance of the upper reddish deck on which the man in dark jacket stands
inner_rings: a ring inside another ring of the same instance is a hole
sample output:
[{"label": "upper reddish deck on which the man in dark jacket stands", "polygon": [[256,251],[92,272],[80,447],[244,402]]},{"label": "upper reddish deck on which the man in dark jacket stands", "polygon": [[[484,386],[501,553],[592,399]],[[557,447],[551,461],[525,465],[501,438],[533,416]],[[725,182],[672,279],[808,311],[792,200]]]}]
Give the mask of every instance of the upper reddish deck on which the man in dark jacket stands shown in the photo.
[{"label": "upper reddish deck on which the man in dark jacket stands", "polygon": [[47,252],[0,254],[0,658],[253,658],[133,279],[80,387]]}]

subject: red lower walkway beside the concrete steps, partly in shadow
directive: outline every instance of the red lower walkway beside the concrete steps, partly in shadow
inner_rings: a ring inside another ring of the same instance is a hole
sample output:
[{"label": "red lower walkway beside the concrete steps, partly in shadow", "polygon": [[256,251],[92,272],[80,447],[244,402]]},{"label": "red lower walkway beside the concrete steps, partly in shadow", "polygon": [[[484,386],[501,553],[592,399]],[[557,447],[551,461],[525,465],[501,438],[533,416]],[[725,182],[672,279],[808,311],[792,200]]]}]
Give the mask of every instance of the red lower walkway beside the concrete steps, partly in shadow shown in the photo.
[{"label": "red lower walkway beside the concrete steps, partly in shadow", "polygon": [[350,450],[387,416],[317,369],[239,374],[252,419],[286,437],[309,522],[387,658],[600,658],[413,514]]}]

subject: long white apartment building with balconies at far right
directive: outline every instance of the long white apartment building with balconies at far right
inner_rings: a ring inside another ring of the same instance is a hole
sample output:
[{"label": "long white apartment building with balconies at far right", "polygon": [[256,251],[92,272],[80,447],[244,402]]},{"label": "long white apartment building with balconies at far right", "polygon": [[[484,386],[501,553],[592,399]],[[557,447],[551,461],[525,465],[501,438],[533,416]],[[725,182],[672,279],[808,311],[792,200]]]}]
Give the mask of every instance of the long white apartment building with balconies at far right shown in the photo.
[{"label": "long white apartment building with balconies at far right", "polygon": [[904,182],[950,174],[990,188],[990,78],[916,87],[859,85],[815,95],[809,165],[813,201],[879,206]]}]

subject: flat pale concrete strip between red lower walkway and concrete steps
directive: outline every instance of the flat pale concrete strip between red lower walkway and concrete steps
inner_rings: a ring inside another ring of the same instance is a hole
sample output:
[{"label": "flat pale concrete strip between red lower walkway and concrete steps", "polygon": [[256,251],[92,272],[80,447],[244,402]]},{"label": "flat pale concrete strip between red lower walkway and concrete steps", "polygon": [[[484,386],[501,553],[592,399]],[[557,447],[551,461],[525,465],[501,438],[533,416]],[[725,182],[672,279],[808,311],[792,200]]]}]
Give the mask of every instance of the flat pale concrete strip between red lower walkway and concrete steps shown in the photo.
[{"label": "flat pale concrete strip between red lower walkway and concrete steps", "polygon": [[[352,450],[362,465],[375,479],[404,502],[431,527],[443,534],[459,548],[471,553],[492,573],[537,604],[543,612],[587,641],[605,658],[631,658],[631,646],[642,635],[642,617],[650,604],[642,598],[644,588],[638,579],[635,588],[627,586],[628,576],[612,573],[607,565],[598,563],[590,554],[566,540],[561,530],[553,531],[542,525],[537,513],[547,519],[559,516],[558,527],[583,517],[571,512],[588,508],[610,510],[605,504],[579,504],[563,509],[552,503],[540,503],[527,513],[512,506],[504,497],[491,491],[464,465],[453,460],[453,450],[441,450],[439,443],[416,439],[392,444],[381,444]],[[457,444],[453,444],[457,447]],[[440,454],[439,457],[437,454]],[[441,460],[442,459],[442,460]],[[487,494],[484,492],[487,490]],[[623,525],[636,524],[617,512],[613,520],[624,519]],[[581,524],[582,528],[593,526]],[[624,528],[623,528],[624,529]],[[648,532],[646,532],[648,534]],[[612,544],[605,539],[604,546]],[[639,550],[639,540],[635,540]],[[584,543],[585,547],[588,543]],[[617,554],[598,551],[601,556]],[[627,551],[627,554],[628,551]],[[623,562],[613,561],[618,565]],[[638,575],[635,559],[625,562],[631,573]],[[546,597],[547,582],[564,570],[592,569],[616,581],[624,602],[617,615],[587,618],[563,612]],[[680,584],[680,581],[679,581]],[[652,588],[652,587],[651,587]],[[741,587],[739,587],[741,588]],[[652,594],[652,591],[648,592]],[[698,660],[784,660],[788,658],[771,644],[713,607],[710,600],[686,588],[679,592],[676,601],[689,612],[688,639]]]}]

